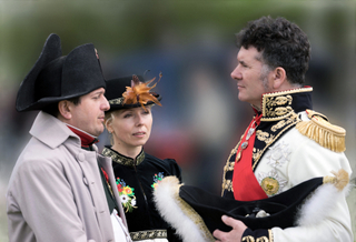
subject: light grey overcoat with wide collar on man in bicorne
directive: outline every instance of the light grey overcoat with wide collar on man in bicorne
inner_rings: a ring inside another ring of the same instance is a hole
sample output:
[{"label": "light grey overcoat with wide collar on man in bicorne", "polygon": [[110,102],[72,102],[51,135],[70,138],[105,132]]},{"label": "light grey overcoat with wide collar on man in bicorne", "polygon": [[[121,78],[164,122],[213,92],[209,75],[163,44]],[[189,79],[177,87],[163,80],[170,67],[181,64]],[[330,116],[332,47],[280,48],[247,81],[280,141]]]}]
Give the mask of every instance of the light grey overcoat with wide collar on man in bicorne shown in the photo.
[{"label": "light grey overcoat with wide collar on man in bicorne", "polygon": [[[116,188],[111,160],[81,149],[79,137],[44,112],[39,112],[30,134],[7,192],[10,242],[115,241],[98,168],[100,162]],[[112,190],[126,225],[119,194]]]}]

